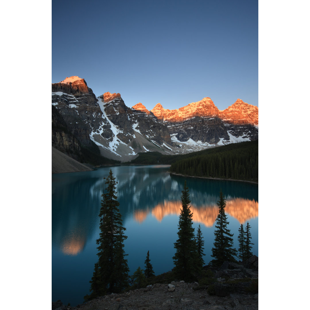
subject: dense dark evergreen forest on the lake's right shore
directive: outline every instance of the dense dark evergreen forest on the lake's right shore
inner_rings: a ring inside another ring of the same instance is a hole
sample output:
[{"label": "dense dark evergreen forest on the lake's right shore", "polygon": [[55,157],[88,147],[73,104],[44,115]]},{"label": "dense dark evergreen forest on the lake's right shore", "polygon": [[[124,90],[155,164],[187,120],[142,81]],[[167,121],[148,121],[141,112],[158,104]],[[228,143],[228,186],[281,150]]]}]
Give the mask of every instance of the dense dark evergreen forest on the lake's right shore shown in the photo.
[{"label": "dense dark evergreen forest on the lake's right shore", "polygon": [[258,181],[258,140],[191,153],[171,164],[170,172],[199,177]]}]

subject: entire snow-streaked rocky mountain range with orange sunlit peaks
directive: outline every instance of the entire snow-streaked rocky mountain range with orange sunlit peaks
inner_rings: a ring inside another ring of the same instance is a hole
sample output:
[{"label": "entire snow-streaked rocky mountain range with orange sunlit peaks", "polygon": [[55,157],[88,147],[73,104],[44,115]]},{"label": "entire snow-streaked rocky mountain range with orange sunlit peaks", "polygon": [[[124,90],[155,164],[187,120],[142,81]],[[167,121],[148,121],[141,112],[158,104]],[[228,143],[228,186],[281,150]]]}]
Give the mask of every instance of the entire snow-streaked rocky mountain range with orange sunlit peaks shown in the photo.
[{"label": "entire snow-streaked rocky mountain range with orange sunlit peaks", "polygon": [[238,99],[220,111],[203,98],[169,110],[126,106],[119,93],[99,97],[77,76],[52,84],[52,145],[78,159],[81,147],[128,161],[139,152],[189,153],[258,139],[258,108]]}]

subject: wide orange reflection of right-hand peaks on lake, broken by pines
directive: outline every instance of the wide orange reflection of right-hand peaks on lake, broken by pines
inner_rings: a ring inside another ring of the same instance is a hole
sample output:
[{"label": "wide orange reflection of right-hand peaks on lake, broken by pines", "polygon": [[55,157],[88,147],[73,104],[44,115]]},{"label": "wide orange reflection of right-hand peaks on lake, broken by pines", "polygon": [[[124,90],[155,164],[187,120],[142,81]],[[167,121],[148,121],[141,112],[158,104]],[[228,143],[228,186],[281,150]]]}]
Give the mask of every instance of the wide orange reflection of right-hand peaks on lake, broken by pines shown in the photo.
[{"label": "wide orange reflection of right-hand peaks on lake, broken by pines", "polygon": [[[151,213],[161,222],[166,215],[176,214],[179,215],[182,207],[181,201],[164,201],[155,206]],[[217,205],[208,206],[191,206],[193,212],[193,221],[202,223],[206,227],[212,227],[215,223],[216,217],[219,213]],[[134,218],[137,222],[142,223],[149,210],[137,210],[135,211]],[[247,220],[258,216],[258,202],[244,198],[233,198],[226,201],[226,213],[236,218],[240,224],[245,223]]]}]

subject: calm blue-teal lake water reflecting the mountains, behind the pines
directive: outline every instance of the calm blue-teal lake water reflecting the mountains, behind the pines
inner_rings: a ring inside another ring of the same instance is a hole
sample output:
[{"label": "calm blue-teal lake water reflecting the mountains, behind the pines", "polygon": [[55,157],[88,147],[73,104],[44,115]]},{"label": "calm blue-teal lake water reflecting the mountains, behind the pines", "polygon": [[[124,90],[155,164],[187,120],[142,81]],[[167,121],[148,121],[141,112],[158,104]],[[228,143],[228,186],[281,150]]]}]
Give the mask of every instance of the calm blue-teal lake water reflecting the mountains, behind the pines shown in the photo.
[{"label": "calm blue-teal lake water reflecting the mountains, behind the pines", "polygon": [[222,189],[228,228],[238,248],[238,228],[249,221],[253,254],[258,256],[258,185],[181,177],[167,173],[169,166],[117,166],[88,172],[52,175],[52,301],[60,299],[75,306],[89,294],[97,261],[99,210],[104,177],[112,169],[117,184],[123,226],[128,236],[130,274],[140,266],[149,250],[156,275],[174,267],[181,191],[186,179],[191,199],[195,232],[198,224],[205,241],[205,263],[214,242],[216,202]]}]

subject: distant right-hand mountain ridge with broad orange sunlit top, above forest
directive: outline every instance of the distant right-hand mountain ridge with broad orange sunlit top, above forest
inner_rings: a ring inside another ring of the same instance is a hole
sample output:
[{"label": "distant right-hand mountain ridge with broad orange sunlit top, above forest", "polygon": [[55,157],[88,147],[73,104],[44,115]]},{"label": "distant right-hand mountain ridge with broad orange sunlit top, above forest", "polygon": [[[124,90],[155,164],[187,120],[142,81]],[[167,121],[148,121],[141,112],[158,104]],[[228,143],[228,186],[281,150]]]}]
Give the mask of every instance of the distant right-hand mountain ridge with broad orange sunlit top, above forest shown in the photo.
[{"label": "distant right-hand mountain ridge with broad orange sunlit top, above forest", "polygon": [[211,146],[258,139],[258,108],[241,99],[224,111],[206,97],[175,110],[165,109],[158,103],[151,113],[169,128],[175,145],[181,142],[180,147],[186,141]]}]

